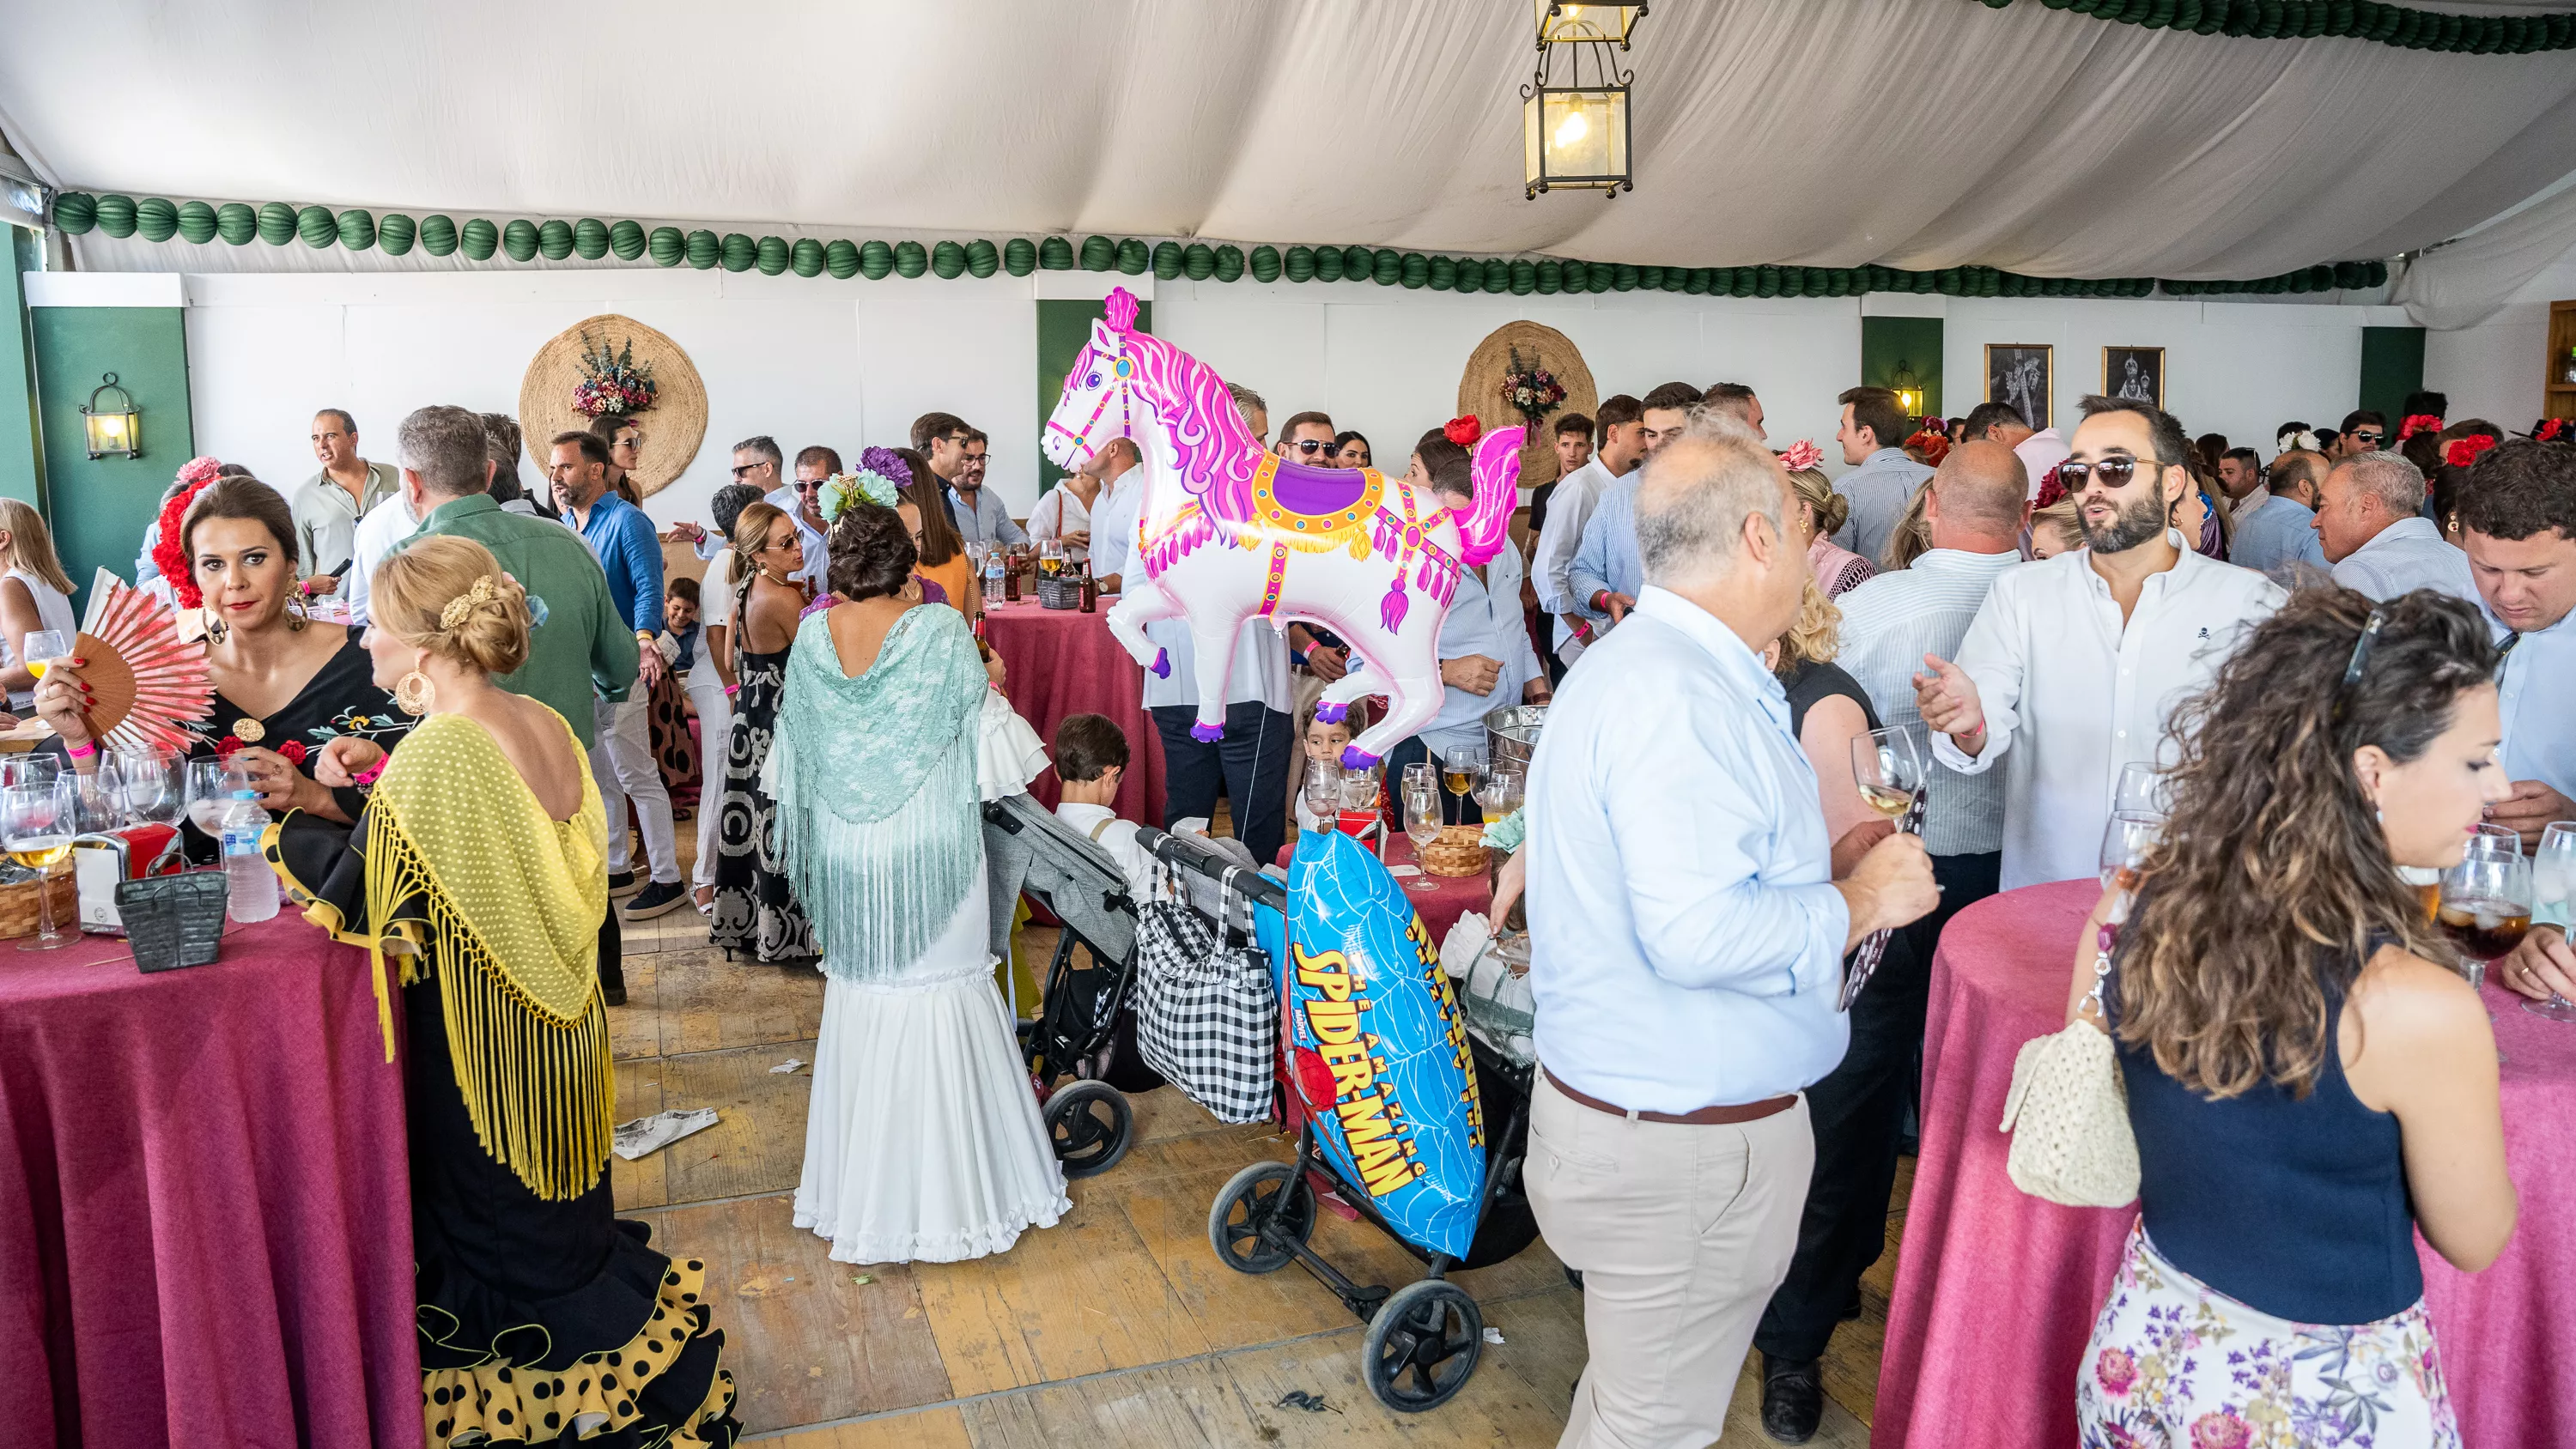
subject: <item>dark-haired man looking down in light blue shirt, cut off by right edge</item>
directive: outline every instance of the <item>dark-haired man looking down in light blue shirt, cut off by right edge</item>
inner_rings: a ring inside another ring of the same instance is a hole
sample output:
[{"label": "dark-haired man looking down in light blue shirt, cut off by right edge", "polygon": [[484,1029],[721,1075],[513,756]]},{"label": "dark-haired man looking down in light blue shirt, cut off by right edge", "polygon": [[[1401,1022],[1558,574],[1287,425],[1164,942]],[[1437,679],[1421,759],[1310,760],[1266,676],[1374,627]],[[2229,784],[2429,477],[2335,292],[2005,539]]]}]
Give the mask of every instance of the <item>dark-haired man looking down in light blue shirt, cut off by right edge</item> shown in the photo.
[{"label": "dark-haired man looking down in light blue shirt, cut off by right edge", "polygon": [[2543,826],[2576,818],[2576,448],[2514,438],[2483,453],[2460,489],[2460,543],[2506,651],[2496,759],[2514,793],[2486,818],[2537,847]]}]

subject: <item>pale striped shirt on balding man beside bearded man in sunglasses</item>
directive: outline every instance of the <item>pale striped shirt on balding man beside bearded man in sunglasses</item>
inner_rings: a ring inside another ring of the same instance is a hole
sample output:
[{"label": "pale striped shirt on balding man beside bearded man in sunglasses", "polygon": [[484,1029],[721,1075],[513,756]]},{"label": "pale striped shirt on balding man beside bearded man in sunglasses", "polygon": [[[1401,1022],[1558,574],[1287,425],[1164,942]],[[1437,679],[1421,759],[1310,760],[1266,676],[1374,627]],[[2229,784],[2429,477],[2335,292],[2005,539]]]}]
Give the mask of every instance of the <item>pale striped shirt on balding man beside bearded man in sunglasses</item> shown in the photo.
[{"label": "pale striped shirt on balding man beside bearded man in sunglasses", "polygon": [[1880,723],[1911,728],[1924,752],[1924,849],[1932,854],[2004,849],[2004,777],[1994,770],[1960,775],[1932,759],[1924,715],[1914,708],[1914,674],[1924,654],[1958,659],[1994,577],[2020,561],[2020,553],[1932,548],[1911,569],[1878,574],[1834,600],[1842,607],[1834,664],[1868,690]]}]

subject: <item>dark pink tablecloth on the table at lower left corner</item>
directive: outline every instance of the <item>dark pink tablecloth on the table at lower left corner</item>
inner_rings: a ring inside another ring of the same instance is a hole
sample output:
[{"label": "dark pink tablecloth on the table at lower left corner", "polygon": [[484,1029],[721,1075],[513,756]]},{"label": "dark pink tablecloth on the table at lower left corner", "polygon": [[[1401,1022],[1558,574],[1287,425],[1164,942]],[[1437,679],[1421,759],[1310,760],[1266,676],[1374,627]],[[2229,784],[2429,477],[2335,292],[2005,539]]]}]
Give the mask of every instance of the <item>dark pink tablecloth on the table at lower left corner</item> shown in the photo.
[{"label": "dark pink tablecloth on the table at lower left corner", "polygon": [[410,1192],[361,952],[0,945],[0,1444],[420,1444]]}]

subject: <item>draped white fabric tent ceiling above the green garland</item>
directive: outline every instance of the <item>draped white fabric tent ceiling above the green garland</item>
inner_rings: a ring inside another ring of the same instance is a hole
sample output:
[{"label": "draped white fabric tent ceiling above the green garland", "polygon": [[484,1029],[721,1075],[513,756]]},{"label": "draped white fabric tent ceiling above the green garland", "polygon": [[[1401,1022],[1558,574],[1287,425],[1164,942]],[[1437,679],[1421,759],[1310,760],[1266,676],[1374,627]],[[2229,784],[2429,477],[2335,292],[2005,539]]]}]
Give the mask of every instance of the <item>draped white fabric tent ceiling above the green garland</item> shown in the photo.
[{"label": "draped white fabric tent ceiling above the green garland", "polygon": [[2442,242],[2576,157],[2571,51],[2038,0],[1656,3],[1618,201],[1522,198],[1525,0],[13,0],[0,33],[0,131],[64,188],[791,234],[2223,281]]}]

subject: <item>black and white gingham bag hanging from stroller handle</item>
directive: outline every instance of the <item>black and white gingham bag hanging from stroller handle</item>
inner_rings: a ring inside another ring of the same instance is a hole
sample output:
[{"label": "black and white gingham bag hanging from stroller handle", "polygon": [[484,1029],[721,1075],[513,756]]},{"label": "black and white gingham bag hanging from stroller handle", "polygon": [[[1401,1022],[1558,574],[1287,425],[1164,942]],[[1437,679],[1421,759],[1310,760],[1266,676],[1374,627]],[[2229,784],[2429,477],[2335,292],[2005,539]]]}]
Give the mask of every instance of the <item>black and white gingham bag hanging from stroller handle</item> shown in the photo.
[{"label": "black and white gingham bag hanging from stroller handle", "polygon": [[[1231,885],[1231,870],[1226,883]],[[1234,891],[1224,911],[1244,945],[1177,901],[1154,901],[1136,927],[1136,1050],[1218,1122],[1262,1122],[1278,1089],[1280,1004],[1270,952],[1249,945],[1252,909]]]}]

